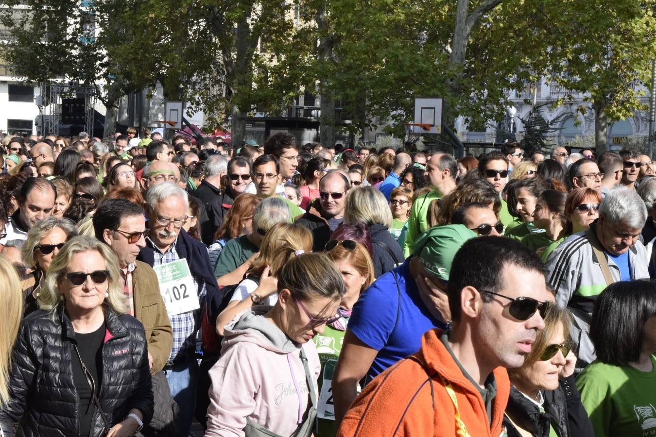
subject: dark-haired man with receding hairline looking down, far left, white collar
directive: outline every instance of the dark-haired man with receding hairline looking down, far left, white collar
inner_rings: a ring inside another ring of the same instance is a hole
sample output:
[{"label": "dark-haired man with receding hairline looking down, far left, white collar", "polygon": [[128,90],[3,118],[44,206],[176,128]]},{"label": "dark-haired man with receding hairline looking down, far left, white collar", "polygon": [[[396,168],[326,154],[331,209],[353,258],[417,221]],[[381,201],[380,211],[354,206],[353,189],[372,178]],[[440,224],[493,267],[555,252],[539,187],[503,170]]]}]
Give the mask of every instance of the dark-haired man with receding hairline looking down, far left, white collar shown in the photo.
[{"label": "dark-haired man with receding hairline looking down, far left, white collar", "polygon": [[52,214],[57,190],[51,181],[43,178],[28,178],[20,188],[16,201],[18,209],[5,224],[6,235],[0,239],[0,246],[7,240],[26,240],[28,231],[37,221]]}]

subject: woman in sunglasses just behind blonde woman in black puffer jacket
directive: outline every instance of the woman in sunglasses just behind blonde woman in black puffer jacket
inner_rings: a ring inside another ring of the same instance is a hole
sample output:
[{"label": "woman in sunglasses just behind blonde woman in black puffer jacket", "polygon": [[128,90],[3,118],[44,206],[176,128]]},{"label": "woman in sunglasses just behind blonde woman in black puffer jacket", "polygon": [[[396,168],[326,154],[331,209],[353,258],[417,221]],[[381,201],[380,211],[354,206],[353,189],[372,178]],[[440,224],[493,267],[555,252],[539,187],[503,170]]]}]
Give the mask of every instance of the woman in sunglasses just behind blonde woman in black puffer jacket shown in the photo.
[{"label": "woman in sunglasses just behind blonde woman in black puffer jacket", "polygon": [[45,273],[52,258],[68,240],[77,235],[75,223],[66,218],[49,217],[37,222],[28,232],[22,249],[23,262],[32,269],[31,277],[23,281],[24,315],[39,309],[37,299],[45,282]]}]

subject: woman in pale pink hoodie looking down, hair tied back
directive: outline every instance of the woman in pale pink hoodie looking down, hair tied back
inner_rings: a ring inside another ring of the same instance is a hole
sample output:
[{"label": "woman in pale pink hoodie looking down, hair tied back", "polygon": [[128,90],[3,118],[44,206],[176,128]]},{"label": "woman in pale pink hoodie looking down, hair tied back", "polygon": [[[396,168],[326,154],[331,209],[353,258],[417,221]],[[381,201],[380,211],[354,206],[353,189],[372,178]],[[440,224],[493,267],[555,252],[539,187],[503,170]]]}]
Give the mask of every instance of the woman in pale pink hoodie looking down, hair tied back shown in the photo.
[{"label": "woman in pale pink hoodie looking down, hair tied back", "polygon": [[338,320],[344,282],[325,254],[285,263],[274,307],[256,307],[225,328],[222,355],[209,371],[206,437],[309,437],[321,364],[312,339]]}]

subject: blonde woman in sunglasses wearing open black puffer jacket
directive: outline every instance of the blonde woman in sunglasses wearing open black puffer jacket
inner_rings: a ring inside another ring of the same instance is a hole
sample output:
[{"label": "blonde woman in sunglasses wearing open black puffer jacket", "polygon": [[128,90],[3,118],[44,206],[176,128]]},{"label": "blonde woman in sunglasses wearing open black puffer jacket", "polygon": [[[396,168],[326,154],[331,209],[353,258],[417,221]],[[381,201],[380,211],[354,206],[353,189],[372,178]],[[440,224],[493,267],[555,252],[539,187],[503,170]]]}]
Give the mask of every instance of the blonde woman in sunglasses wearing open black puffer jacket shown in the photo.
[{"label": "blonde woman in sunglasses wearing open black puffer jacket", "polygon": [[73,237],[52,259],[41,310],[24,318],[12,352],[0,427],[25,436],[132,436],[153,413],[143,326],[124,314],[112,250]]}]

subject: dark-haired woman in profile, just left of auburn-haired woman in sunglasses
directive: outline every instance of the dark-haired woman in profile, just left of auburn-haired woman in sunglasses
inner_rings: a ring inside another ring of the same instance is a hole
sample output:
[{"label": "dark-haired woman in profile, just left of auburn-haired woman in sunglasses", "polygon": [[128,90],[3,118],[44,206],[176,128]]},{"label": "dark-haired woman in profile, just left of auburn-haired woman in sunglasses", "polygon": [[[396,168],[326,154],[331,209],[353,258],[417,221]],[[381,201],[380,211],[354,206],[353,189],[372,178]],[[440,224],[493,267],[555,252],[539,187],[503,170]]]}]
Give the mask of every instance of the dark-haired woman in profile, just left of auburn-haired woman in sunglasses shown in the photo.
[{"label": "dark-haired woman in profile, just left of auburn-haired woman in sunglasses", "polygon": [[535,202],[533,226],[536,229],[544,229],[544,232],[524,235],[521,241],[524,246],[533,250],[538,256],[542,256],[548,246],[554,243],[560,244],[567,237],[565,234],[565,199],[567,199],[565,193],[548,189],[543,191]]}]

